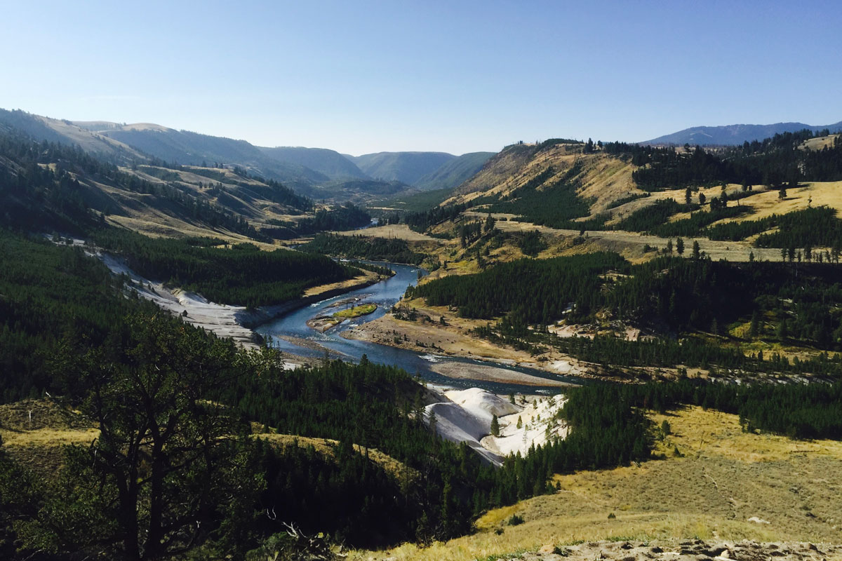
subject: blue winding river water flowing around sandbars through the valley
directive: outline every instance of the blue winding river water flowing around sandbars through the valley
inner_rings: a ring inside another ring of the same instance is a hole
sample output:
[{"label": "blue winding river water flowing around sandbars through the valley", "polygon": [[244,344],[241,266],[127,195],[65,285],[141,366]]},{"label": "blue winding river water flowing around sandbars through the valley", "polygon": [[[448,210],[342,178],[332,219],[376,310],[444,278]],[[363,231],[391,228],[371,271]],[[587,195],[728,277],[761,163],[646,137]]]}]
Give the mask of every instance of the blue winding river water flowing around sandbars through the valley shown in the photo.
[{"label": "blue winding river water flowing around sandbars through the valley", "polygon": [[[520,373],[528,373],[540,378],[548,378],[553,380],[564,380],[574,384],[582,384],[584,380],[581,378],[565,377],[556,374],[546,373],[534,368],[520,368],[509,366],[501,363],[489,363],[486,361],[473,361],[468,358],[457,357],[442,357],[429,353],[419,353],[401,349],[397,347],[390,347],[387,345],[380,345],[367,341],[354,341],[353,339],[345,339],[339,334],[342,331],[348,330],[354,326],[361,325],[371,320],[376,320],[386,314],[394,304],[401,299],[404,292],[410,285],[418,283],[418,275],[425,274],[423,269],[413,267],[411,265],[399,265],[397,263],[376,262],[376,265],[389,267],[395,271],[392,278],[387,278],[380,283],[376,283],[366,288],[358,288],[349,293],[336,296],[331,299],[322,300],[315,304],[310,304],[306,308],[290,312],[277,320],[271,321],[267,324],[258,327],[257,331],[262,336],[271,341],[272,345],[281,351],[290,352],[304,357],[323,357],[324,351],[319,350],[314,345],[304,347],[290,342],[283,336],[289,336],[296,339],[306,340],[310,343],[316,343],[320,347],[329,349],[332,357],[339,357],[343,360],[348,360],[354,363],[360,361],[360,357],[364,354],[373,363],[390,364],[403,368],[408,373],[418,374],[431,384],[441,384],[450,386],[452,388],[482,388],[488,389],[498,394],[509,393],[542,393],[542,394],[557,394],[560,390],[557,387],[536,387],[526,386],[520,384],[502,384],[497,382],[489,382],[485,380],[472,380],[461,378],[449,378],[442,376],[440,373],[434,372],[430,367],[433,363],[438,362],[458,362],[458,363],[475,363],[486,364],[497,368],[505,368]],[[355,304],[377,304],[377,310],[369,315],[363,315],[354,320],[346,320],[324,333],[319,333],[313,330],[306,321],[310,320],[316,315],[330,315],[336,308],[328,310],[328,308],[344,299],[356,299]]]}]

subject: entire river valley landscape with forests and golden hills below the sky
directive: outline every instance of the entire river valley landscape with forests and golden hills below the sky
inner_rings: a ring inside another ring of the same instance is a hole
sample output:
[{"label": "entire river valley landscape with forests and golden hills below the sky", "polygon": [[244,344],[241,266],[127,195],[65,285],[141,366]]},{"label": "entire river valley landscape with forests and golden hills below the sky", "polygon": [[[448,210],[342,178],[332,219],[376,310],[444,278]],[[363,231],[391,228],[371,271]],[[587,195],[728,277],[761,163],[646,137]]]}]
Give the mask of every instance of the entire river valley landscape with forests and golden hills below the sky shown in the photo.
[{"label": "entire river valley landscape with forests and golden hills below the sky", "polygon": [[[195,473],[213,535],[159,530],[249,559],[838,541],[838,136],[356,159],[13,116],[59,136],[0,136],[3,551],[118,551],[70,512],[176,513]],[[133,475],[195,453],[167,490]]]}]

